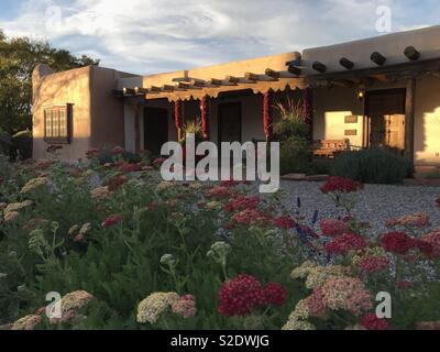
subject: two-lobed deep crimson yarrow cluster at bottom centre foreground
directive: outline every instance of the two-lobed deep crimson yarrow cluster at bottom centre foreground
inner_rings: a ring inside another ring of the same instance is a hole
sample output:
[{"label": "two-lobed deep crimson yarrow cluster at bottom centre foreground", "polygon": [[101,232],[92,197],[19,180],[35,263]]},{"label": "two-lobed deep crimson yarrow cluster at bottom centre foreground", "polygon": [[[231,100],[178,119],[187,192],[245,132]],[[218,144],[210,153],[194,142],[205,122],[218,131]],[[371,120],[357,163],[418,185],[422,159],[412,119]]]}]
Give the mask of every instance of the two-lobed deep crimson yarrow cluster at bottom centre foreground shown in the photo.
[{"label": "two-lobed deep crimson yarrow cluster at bottom centre foreground", "polygon": [[240,275],[230,279],[219,292],[219,312],[227,317],[246,316],[253,309],[270,305],[283,306],[287,292],[278,284],[266,287],[253,276]]}]

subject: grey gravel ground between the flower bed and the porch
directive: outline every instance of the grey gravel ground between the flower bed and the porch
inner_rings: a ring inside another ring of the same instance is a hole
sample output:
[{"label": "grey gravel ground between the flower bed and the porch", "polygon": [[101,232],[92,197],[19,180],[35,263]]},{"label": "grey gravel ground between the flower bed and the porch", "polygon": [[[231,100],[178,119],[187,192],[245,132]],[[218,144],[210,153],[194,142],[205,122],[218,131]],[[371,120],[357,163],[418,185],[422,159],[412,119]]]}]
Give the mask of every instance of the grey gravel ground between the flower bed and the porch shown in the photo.
[{"label": "grey gravel ground between the flower bed and the porch", "polygon": [[[300,213],[308,219],[312,219],[315,210],[319,210],[319,219],[344,216],[343,210],[320,191],[321,186],[321,183],[282,182],[282,188],[287,194],[285,206],[298,209],[297,198],[300,197]],[[356,197],[353,215],[372,224],[373,237],[387,231],[384,224],[388,219],[416,212],[429,213],[432,228],[440,229],[440,210],[435,206],[436,199],[440,197],[438,187],[365,185]]]}]

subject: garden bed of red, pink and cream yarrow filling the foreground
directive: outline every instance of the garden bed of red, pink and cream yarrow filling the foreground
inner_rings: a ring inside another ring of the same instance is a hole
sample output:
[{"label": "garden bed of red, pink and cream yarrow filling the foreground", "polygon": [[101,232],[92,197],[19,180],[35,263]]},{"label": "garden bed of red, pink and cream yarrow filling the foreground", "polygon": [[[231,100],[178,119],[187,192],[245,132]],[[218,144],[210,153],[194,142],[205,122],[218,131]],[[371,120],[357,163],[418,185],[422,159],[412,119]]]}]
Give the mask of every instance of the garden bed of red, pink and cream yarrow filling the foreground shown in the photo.
[{"label": "garden bed of red, pink and cream yarrow filling the foreground", "polygon": [[[346,178],[321,188],[340,218],[308,219],[283,191],[162,182],[161,160],[98,154],[0,160],[1,329],[440,329],[440,230],[427,215],[372,238],[352,217],[362,184]],[[376,315],[380,293],[389,317]]]}]

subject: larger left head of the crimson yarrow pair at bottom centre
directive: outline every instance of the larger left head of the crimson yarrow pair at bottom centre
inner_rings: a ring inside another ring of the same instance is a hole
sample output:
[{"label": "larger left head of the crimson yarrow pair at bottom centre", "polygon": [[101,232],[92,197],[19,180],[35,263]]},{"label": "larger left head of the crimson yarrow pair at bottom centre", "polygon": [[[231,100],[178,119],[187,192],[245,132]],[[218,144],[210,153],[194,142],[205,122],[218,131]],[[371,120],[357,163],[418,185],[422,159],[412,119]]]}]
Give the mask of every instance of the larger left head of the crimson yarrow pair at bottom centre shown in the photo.
[{"label": "larger left head of the crimson yarrow pair at bottom centre", "polygon": [[222,316],[246,316],[264,302],[261,283],[250,275],[240,275],[226,282],[220,288],[219,312]]}]

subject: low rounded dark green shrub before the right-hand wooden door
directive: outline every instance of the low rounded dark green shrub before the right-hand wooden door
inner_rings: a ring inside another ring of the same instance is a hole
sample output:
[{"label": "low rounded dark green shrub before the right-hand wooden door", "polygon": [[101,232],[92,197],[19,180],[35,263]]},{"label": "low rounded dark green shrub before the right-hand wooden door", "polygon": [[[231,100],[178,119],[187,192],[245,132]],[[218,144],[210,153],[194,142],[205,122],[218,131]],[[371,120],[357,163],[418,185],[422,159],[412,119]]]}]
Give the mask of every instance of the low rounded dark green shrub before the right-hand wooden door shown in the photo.
[{"label": "low rounded dark green shrub before the right-hand wooden door", "polygon": [[340,154],[332,174],[366,184],[398,184],[413,174],[413,165],[403,156],[374,147]]}]

